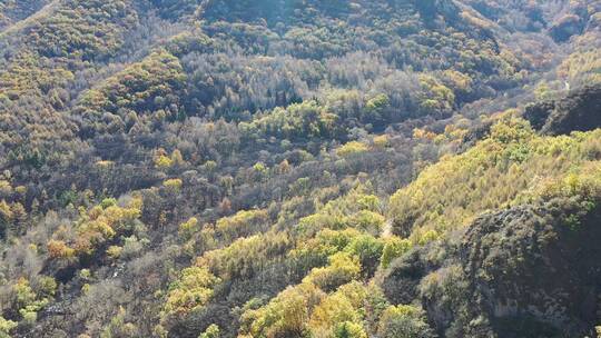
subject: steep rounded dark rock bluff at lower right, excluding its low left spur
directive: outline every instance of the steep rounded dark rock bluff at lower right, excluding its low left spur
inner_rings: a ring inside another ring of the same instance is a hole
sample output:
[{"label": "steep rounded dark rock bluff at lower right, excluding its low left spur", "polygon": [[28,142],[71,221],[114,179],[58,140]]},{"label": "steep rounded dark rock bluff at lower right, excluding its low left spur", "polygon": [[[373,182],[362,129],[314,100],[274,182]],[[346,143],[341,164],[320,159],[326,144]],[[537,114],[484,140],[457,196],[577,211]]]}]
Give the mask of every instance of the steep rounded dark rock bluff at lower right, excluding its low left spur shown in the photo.
[{"label": "steep rounded dark rock bluff at lower right, excluding its low left spur", "polygon": [[569,201],[524,206],[476,220],[461,243],[472,299],[500,337],[528,318],[539,335],[584,336],[595,325],[601,291],[601,208],[579,212]]}]

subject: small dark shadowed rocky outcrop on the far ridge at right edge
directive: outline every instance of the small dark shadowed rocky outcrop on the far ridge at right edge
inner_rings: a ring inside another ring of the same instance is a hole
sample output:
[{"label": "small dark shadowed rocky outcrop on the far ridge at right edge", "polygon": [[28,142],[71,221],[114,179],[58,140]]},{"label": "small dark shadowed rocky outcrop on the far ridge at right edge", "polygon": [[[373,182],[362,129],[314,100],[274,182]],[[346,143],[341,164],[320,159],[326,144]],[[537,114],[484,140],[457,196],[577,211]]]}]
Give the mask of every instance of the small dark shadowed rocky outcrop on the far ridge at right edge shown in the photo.
[{"label": "small dark shadowed rocky outcrop on the far ridge at right edge", "polygon": [[601,84],[584,87],[561,100],[531,105],[524,118],[546,135],[597,129],[601,127]]}]

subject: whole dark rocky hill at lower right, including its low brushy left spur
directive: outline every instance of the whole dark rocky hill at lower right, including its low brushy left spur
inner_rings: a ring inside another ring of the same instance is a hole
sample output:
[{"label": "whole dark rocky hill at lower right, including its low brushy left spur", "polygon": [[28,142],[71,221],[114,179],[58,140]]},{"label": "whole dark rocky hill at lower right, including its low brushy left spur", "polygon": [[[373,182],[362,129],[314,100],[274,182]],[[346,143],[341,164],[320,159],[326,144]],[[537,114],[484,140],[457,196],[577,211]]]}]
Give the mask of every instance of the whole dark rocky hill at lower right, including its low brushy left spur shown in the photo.
[{"label": "whole dark rocky hill at lower right, including its low brushy left spur", "polygon": [[421,301],[440,337],[584,337],[600,319],[600,225],[601,203],[578,198],[489,213],[393,262],[381,285]]}]

